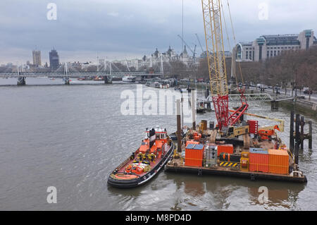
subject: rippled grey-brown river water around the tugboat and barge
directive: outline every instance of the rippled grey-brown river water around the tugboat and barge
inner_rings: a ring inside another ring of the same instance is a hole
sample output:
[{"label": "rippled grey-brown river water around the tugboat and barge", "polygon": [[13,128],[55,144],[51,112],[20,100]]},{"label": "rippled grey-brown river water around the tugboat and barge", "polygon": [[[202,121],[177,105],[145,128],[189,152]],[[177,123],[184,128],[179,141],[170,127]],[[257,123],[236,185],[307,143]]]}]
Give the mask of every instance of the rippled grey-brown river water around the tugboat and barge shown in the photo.
[{"label": "rippled grey-brown river water around the tugboat and barge", "polygon": [[[0,79],[0,210],[317,209],[316,139],[315,149],[305,142],[299,157],[306,184],[161,171],[144,186],[118,190],[107,186],[108,174],[139,147],[145,128],[159,125],[174,132],[175,116],[123,116],[120,95],[136,92],[135,84],[26,82],[17,87],[15,79]],[[147,90],[159,92],[144,86]],[[288,145],[289,111],[272,113],[269,104],[251,104],[249,112],[284,118],[280,136]],[[198,116],[214,118],[214,113]],[[57,189],[56,204],[46,202],[49,186]],[[258,200],[261,186],[268,188],[264,204]]]}]

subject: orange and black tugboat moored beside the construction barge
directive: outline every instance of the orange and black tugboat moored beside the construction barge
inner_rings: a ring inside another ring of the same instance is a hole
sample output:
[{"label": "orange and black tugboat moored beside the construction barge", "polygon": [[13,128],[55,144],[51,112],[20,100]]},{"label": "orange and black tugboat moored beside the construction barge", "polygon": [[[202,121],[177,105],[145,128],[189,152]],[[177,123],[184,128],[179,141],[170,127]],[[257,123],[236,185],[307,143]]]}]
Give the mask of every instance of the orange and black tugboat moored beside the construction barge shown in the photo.
[{"label": "orange and black tugboat moored beside the construction barge", "polygon": [[108,185],[116,188],[135,188],[147,183],[168,162],[174,144],[165,128],[146,129],[146,138],[137,151],[111,172]]}]

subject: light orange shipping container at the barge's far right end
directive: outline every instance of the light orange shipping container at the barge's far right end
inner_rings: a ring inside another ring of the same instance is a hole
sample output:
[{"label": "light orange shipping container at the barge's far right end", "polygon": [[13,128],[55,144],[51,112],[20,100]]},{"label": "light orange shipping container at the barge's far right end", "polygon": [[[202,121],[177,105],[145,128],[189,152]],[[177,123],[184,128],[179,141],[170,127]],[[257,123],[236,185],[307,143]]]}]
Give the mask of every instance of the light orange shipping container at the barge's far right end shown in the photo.
[{"label": "light orange shipping container at the barge's far right end", "polygon": [[287,150],[268,150],[269,173],[289,174],[289,159]]}]

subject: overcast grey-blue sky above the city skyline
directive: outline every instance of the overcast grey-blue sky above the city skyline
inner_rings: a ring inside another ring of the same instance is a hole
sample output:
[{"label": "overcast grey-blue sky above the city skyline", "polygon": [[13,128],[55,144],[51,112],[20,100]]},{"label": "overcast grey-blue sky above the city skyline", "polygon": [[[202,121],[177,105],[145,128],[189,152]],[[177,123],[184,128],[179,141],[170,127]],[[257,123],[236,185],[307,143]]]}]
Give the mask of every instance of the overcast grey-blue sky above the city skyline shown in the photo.
[{"label": "overcast grey-blue sky above the city skyline", "polygon": [[[317,30],[316,0],[229,2],[237,42]],[[57,6],[57,20],[47,19],[49,3]],[[261,3],[268,6],[268,20],[259,19]],[[184,0],[184,39],[192,49],[197,44],[200,54],[195,33],[204,45],[201,1]],[[61,61],[97,61],[97,51],[99,59],[141,58],[156,47],[166,51],[169,45],[179,53],[178,35],[182,35],[182,0],[0,1],[0,63],[32,62],[35,48],[41,50],[42,63],[49,61],[53,47]]]}]

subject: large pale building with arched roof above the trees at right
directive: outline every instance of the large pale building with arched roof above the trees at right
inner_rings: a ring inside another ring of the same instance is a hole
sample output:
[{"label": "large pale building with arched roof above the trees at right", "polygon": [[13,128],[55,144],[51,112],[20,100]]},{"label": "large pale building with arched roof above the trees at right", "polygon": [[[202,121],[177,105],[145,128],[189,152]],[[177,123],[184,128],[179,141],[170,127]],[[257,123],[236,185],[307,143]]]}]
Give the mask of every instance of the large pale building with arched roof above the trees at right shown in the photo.
[{"label": "large pale building with arched roof above the trees at right", "polygon": [[299,35],[263,35],[253,42],[236,45],[237,61],[261,61],[279,56],[283,51],[309,49],[317,46],[313,30],[304,30]]}]

